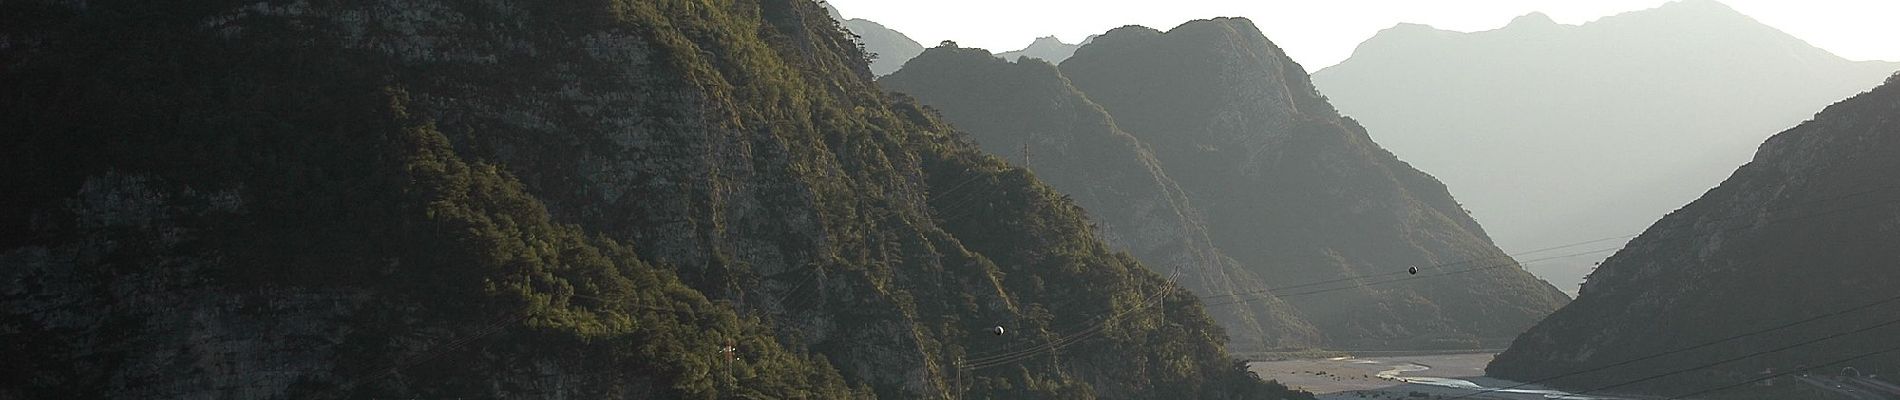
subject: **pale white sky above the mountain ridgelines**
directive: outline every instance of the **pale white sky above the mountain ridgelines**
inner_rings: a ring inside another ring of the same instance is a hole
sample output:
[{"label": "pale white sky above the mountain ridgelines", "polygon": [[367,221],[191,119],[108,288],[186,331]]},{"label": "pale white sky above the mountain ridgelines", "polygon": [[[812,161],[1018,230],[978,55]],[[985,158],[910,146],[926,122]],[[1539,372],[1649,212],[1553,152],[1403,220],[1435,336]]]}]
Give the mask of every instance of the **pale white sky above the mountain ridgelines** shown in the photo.
[{"label": "pale white sky above the mountain ridgelines", "polygon": [[[870,19],[925,47],[1011,51],[1039,36],[1081,42],[1123,25],[1174,28],[1189,19],[1248,17],[1307,70],[1353,55],[1396,23],[1490,30],[1543,11],[1568,25],[1647,9],[1668,0],[828,0],[847,19]],[[1835,55],[1900,61],[1900,0],[1721,0]]]}]

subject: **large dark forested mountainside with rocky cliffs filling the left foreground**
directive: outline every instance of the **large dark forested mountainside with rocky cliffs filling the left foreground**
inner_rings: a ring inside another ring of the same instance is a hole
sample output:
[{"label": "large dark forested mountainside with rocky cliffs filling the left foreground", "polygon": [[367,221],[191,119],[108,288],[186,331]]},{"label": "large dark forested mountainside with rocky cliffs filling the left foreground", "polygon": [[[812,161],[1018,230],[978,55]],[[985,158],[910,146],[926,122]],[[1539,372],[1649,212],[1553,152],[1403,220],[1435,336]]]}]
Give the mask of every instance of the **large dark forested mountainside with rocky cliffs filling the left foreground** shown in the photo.
[{"label": "large dark forested mountainside with rocky cliffs filling the left foreground", "polygon": [[809,0],[0,38],[0,398],[1311,398]]}]

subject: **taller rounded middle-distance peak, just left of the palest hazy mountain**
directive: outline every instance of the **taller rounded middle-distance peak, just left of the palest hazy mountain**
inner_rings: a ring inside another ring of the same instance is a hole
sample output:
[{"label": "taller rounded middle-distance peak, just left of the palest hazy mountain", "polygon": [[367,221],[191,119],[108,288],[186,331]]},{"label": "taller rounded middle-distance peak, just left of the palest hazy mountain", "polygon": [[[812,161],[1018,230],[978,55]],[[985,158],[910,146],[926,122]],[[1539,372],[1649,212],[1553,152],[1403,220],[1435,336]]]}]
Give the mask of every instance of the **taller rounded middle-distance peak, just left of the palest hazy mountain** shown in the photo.
[{"label": "taller rounded middle-distance peak, just left of the palest hazy mountain", "polygon": [[1246,19],[1115,28],[1060,68],[1334,349],[1503,345],[1568,301]]}]

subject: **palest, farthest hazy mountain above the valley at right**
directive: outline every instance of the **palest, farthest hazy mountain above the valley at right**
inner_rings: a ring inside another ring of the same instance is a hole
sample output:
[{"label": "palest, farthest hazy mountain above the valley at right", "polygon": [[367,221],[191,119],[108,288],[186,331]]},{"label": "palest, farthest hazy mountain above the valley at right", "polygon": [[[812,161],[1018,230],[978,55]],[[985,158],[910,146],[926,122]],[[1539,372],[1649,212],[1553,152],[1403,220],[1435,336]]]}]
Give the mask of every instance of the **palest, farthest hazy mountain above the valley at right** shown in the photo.
[{"label": "palest, farthest hazy mountain above the valley at right", "polygon": [[1575,290],[1615,245],[1720,182],[1767,135],[1896,68],[1682,0],[1585,25],[1543,13],[1484,32],[1398,25],[1313,83],[1442,178],[1505,250],[1613,239],[1535,254],[1556,260],[1533,273]]}]

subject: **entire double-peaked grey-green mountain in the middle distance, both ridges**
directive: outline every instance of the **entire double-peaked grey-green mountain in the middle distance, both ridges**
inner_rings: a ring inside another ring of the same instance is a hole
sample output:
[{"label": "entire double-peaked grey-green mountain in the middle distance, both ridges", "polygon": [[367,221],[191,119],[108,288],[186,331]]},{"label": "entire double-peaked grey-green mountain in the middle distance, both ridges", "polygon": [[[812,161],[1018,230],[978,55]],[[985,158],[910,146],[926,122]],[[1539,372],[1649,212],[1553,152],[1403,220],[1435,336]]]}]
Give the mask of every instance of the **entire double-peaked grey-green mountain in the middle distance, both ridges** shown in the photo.
[{"label": "entire double-peaked grey-green mountain in the middle distance, both ridges", "polygon": [[1115,28],[1060,70],[978,53],[931,49],[882,83],[1049,176],[1151,267],[1193,265],[1210,307],[1264,300],[1216,311],[1237,349],[1298,345],[1305,324],[1334,349],[1503,345],[1568,301],[1246,19]]}]

